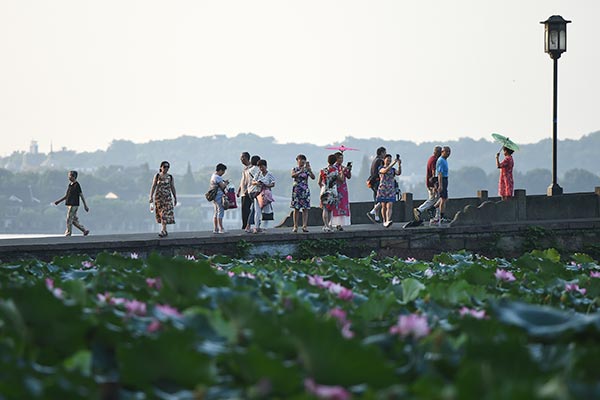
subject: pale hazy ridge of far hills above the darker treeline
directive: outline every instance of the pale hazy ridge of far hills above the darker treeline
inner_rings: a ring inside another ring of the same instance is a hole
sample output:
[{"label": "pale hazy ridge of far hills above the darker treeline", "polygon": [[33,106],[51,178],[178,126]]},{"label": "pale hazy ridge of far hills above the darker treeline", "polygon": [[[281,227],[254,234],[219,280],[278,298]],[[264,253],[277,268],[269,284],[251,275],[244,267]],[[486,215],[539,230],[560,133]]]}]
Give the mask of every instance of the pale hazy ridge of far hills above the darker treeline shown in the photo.
[{"label": "pale hazy ridge of far hills above the darker treeline", "polygon": [[[403,160],[403,175],[423,174],[425,163],[431,154],[434,142],[416,144],[410,141],[382,140],[377,138],[357,139],[347,137],[340,143],[355,147],[360,151],[348,151],[346,160],[353,160],[357,169],[367,165],[365,157],[370,158],[379,146],[385,146],[392,154],[400,153]],[[495,170],[494,154],[500,146],[488,140],[473,140],[461,138],[447,143],[452,147],[449,160],[453,170],[467,166],[476,166],[486,173]],[[525,173],[534,169],[550,169],[552,160],[551,140],[545,139],[534,144],[521,146],[521,151],[515,155],[515,169]],[[600,131],[583,136],[579,140],[561,140],[558,146],[559,175],[567,170],[581,168],[597,171],[594,161],[600,149]],[[238,165],[242,151],[259,154],[269,161],[272,169],[284,170],[295,164],[296,155],[305,154],[313,166],[326,164],[327,155],[331,150],[310,143],[281,144],[273,137],[260,137],[252,133],[240,133],[228,138],[223,135],[194,137],[181,136],[177,139],[133,143],[127,140],[115,140],[105,150],[77,153],[74,151],[58,151],[51,154],[31,154],[15,152],[10,156],[0,158],[0,168],[13,172],[43,169],[79,169],[93,171],[100,167],[111,165],[139,166],[148,164],[150,169],[158,168],[162,160],[171,162],[172,171],[183,174],[187,163],[194,170],[210,167],[219,162],[228,165]]]}]

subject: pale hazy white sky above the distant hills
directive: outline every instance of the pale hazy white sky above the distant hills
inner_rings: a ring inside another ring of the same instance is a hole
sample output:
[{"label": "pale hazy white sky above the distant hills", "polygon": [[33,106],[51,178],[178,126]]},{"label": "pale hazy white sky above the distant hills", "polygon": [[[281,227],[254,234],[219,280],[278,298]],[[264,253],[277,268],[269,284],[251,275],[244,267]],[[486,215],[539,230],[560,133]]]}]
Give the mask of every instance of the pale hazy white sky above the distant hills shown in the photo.
[{"label": "pale hazy white sky above the distant hills", "polygon": [[600,1],[0,0],[0,154],[253,132],[551,136],[543,25],[573,21],[559,138],[600,130]]}]

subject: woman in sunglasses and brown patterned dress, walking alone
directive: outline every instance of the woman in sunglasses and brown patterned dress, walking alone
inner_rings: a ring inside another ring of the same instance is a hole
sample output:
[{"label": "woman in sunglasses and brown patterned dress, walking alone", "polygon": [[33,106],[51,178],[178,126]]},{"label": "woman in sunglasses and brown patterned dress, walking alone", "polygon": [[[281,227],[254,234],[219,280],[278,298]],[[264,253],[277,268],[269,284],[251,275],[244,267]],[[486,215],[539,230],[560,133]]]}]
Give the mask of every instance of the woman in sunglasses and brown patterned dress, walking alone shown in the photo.
[{"label": "woman in sunglasses and brown patterned dress, walking alone", "polygon": [[[175,193],[175,182],[169,171],[169,162],[160,163],[160,172],[154,175],[152,188],[150,189],[150,203],[154,203],[156,223],[162,225],[158,236],[168,235],[167,225],[175,223],[173,209],[177,205],[177,194]],[[171,197],[171,193],[173,196]]]}]

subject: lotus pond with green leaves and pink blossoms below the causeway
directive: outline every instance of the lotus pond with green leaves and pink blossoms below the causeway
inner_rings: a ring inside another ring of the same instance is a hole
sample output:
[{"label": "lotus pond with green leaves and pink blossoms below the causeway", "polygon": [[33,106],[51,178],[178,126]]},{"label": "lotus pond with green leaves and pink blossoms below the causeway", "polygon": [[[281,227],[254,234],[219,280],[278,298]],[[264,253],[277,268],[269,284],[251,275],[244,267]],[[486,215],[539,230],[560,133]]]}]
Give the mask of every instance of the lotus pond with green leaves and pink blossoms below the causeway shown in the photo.
[{"label": "lotus pond with green leaves and pink blossoms below the causeway", "polygon": [[600,266],[100,254],[0,265],[0,399],[600,398]]}]

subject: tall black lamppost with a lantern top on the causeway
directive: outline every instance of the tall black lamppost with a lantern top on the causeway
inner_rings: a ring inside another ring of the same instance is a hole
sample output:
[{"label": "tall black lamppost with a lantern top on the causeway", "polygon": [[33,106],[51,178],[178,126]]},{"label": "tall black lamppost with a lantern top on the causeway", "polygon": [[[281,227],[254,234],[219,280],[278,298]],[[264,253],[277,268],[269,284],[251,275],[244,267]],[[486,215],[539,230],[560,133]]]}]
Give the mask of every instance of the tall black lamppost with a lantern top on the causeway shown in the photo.
[{"label": "tall black lamppost with a lantern top on the causeway", "polygon": [[567,51],[567,24],[571,21],[565,20],[560,15],[553,15],[546,21],[540,22],[545,26],[544,51],[550,55],[554,61],[554,99],[552,103],[552,184],[548,186],[546,194],[556,196],[562,194],[562,188],[556,183],[556,146],[557,134],[556,124],[557,115],[557,97],[558,97],[558,59],[560,55]]}]

